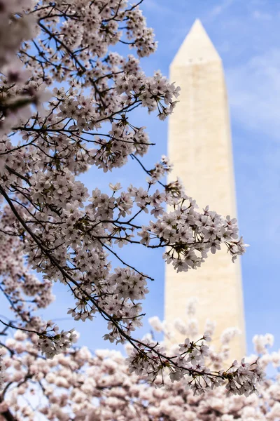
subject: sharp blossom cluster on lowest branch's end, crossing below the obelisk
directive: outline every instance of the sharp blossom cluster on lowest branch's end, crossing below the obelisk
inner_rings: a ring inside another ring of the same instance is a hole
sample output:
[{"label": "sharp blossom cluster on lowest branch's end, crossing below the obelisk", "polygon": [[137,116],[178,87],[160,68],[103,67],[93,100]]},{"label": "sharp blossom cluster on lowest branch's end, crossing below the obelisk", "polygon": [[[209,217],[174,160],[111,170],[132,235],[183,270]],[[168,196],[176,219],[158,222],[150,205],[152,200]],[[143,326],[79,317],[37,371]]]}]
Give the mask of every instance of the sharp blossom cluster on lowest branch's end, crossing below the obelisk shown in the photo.
[{"label": "sharp blossom cluster on lowest branch's end, crossing below the obelisk", "polygon": [[[249,396],[258,394],[257,387],[264,378],[264,372],[258,359],[253,363],[233,361],[228,370],[221,369],[211,372],[205,366],[205,358],[209,356],[209,346],[205,341],[211,341],[208,333],[204,333],[200,340],[191,341],[189,338],[179,344],[179,349],[172,349],[174,356],[167,356],[165,349],[158,342],[143,340],[139,349],[132,349],[127,363],[130,372],[145,376],[150,382],[156,377],[163,378],[165,371],[169,372],[172,382],[181,381],[184,387],[196,394],[204,394],[205,389],[214,389],[224,385],[229,394]],[[155,351],[157,355],[155,356]],[[162,382],[164,384],[164,382]]]}]

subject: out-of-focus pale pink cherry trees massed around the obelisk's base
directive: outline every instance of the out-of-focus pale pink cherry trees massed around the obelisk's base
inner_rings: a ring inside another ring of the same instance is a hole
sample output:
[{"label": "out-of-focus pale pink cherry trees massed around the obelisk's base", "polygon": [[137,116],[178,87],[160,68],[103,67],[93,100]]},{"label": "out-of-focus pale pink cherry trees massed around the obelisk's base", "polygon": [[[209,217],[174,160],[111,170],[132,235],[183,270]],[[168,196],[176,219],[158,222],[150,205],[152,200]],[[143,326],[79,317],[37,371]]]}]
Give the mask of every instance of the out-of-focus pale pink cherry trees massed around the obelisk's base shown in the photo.
[{"label": "out-of-focus pale pink cherry trees massed around the obelisk's base", "polygon": [[[178,329],[196,342],[197,320],[193,305],[188,305],[188,319],[176,320],[172,326],[153,317],[152,335],[169,335]],[[206,328],[213,333],[214,323]],[[228,359],[230,341],[237,329],[228,328],[216,347],[209,342],[205,353],[207,366],[221,370]],[[170,338],[169,338],[170,339]],[[145,340],[145,338],[144,338]],[[151,340],[151,334],[146,335]],[[160,378],[154,384],[146,377],[130,373],[125,357],[116,351],[99,349],[91,352],[87,347],[72,348],[53,359],[38,353],[36,334],[17,330],[13,338],[3,344],[3,363],[6,365],[6,386],[3,389],[0,416],[3,420],[59,420],[59,421],[253,421],[280,419],[280,352],[270,352],[272,335],[253,338],[256,355],[242,363],[246,373],[250,363],[260,357],[260,366],[274,366],[276,376],[260,385],[260,395],[228,394],[224,388],[207,389],[194,394],[186,381],[174,382],[164,373],[165,386]],[[162,347],[165,345],[162,344]],[[127,346],[130,354],[132,346]]]}]

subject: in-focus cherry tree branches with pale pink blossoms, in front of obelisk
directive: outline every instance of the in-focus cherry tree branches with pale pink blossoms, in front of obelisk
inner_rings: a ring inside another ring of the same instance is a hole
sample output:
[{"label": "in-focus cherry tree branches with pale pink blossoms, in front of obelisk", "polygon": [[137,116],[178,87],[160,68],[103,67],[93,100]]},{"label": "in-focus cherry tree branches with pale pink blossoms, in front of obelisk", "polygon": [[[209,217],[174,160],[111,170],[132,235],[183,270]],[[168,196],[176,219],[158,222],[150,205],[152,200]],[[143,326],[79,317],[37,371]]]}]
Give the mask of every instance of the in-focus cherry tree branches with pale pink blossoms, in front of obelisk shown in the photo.
[{"label": "in-focus cherry tree branches with pale pink blossoms, in front of obelisk", "polygon": [[[51,302],[51,284],[59,281],[75,298],[74,320],[100,314],[108,323],[104,338],[132,347],[128,361],[137,375],[155,382],[167,370],[197,393],[226,383],[232,393],[248,394],[262,378],[258,361],[245,371],[243,363],[209,370],[208,333],[175,354],[134,335],[152,278],[119,248],[160,248],[177,271],[199,269],[222,246],[232,260],[245,250],[237,220],[208,207],[201,212],[179,180],[165,183],[167,157],[151,169],[142,162],[154,143],[132,124],[134,109],[164,120],[179,96],[160,72],[141,69],[140,58],[156,48],[142,1],[0,0],[1,292],[17,319],[1,323],[36,335],[43,358],[66,352],[74,331],[33,314]],[[137,56],[113,52],[116,44]],[[78,180],[91,167],[102,175],[129,159],[148,176],[144,187],[117,182],[108,195],[98,184],[90,193]],[[143,225],[145,213],[151,220]]]}]

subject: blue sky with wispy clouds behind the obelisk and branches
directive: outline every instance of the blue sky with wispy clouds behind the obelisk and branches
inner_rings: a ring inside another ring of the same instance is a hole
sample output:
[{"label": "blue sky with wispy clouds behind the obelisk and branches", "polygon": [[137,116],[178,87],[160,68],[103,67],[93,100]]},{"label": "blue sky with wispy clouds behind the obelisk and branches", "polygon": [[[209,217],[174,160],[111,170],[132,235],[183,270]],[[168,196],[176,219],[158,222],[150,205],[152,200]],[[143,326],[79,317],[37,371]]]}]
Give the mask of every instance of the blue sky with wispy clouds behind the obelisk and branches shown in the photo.
[{"label": "blue sky with wispy clouds behind the obelisk and branches", "polygon": [[[142,8],[159,42],[158,51],[142,61],[147,74],[161,69],[168,75],[169,63],[195,18],[202,20],[223,59],[232,121],[239,228],[251,245],[242,258],[248,352],[253,350],[251,338],[255,333],[273,333],[276,347],[280,347],[280,2],[144,0]],[[151,141],[157,143],[144,160],[151,167],[166,153],[167,122],[148,116],[143,109],[137,110],[134,119],[147,126]],[[96,186],[106,189],[111,181],[119,181],[123,187],[130,182],[140,186],[145,179],[133,162],[113,173],[90,171],[81,177],[90,191]],[[188,192],[188,186],[186,189]],[[146,319],[155,314],[163,318],[162,251],[129,248],[123,256],[133,259],[136,267],[155,278],[144,310]],[[104,323],[97,319],[77,326],[66,317],[69,295],[65,287],[56,284],[54,292],[56,302],[41,314],[57,319],[62,328],[75,326],[81,334],[80,345],[92,349],[108,347],[109,343],[102,340]],[[65,317],[66,320],[59,320]],[[147,329],[145,323],[139,335]]]}]

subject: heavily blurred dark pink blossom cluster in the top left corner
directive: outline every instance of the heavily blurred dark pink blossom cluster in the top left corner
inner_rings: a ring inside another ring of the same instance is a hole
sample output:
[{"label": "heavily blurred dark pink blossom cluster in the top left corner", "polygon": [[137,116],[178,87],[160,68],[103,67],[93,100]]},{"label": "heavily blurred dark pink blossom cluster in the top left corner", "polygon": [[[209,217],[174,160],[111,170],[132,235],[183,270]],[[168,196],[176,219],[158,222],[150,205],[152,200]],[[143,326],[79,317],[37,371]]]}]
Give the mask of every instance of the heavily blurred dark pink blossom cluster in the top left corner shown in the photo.
[{"label": "heavily blurred dark pink blossom cluster in the top left corner", "polygon": [[27,121],[30,105],[48,99],[43,79],[34,80],[18,53],[23,41],[36,36],[34,0],[1,0],[0,8],[0,134]]}]

